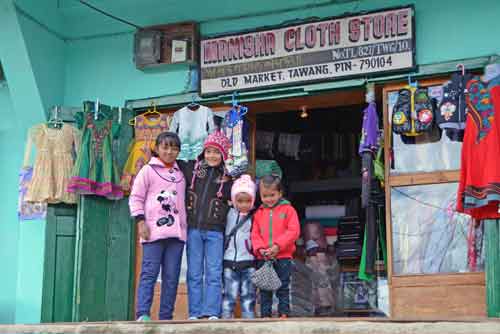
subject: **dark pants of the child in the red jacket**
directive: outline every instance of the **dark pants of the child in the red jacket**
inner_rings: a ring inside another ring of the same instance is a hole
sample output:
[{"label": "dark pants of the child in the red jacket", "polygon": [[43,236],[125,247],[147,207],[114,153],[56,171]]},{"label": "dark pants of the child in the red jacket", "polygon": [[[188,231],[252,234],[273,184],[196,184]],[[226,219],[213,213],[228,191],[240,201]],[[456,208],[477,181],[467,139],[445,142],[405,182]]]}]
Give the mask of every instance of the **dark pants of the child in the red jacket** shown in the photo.
[{"label": "dark pants of the child in the red jacket", "polygon": [[[265,261],[258,261],[257,267],[264,265]],[[290,276],[292,273],[292,260],[280,259],[273,263],[274,270],[281,280],[281,287],[276,291],[278,297],[278,313],[279,315],[290,314]],[[269,318],[272,315],[273,307],[273,291],[260,291],[260,316]]]}]

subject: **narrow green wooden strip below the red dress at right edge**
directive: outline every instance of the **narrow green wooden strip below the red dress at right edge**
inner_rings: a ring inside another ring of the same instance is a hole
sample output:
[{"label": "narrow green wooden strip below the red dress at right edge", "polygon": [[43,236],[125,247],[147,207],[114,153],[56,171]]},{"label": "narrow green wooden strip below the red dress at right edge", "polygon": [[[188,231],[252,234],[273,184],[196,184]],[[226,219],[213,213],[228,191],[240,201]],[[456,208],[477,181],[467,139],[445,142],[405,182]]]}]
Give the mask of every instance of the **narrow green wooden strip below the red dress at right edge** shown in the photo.
[{"label": "narrow green wooden strip below the red dress at right edge", "polygon": [[500,220],[486,220],[486,302],[489,317],[500,318]]}]

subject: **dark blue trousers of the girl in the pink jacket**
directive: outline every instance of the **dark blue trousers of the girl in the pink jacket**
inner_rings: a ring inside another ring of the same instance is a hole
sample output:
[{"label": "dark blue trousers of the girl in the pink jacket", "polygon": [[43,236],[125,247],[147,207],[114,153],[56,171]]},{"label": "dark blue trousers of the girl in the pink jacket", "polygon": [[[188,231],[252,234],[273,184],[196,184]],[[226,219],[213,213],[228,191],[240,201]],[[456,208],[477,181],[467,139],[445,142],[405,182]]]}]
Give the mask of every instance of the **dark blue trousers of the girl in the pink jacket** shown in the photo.
[{"label": "dark blue trousers of the girl in the pink jacket", "polygon": [[177,238],[142,244],[142,268],[137,291],[136,318],[150,315],[154,288],[161,267],[160,320],[172,319],[183,251],[184,241]]}]

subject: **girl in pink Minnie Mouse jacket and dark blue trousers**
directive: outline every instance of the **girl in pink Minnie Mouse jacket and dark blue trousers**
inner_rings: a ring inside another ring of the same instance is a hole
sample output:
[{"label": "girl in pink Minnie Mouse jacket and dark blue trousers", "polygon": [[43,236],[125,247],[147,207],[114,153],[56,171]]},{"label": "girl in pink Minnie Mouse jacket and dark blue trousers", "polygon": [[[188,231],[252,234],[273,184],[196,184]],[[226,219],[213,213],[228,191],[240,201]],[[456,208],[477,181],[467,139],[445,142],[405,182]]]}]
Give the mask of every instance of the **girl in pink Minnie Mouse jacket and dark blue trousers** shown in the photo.
[{"label": "girl in pink Minnie Mouse jacket and dark blue trousers", "polygon": [[138,224],[143,250],[137,292],[138,321],[150,320],[160,268],[160,320],[172,319],[174,311],[187,231],[186,180],[176,162],[180,147],[177,134],[161,133],[153,157],[134,180],[129,198],[130,213]]}]

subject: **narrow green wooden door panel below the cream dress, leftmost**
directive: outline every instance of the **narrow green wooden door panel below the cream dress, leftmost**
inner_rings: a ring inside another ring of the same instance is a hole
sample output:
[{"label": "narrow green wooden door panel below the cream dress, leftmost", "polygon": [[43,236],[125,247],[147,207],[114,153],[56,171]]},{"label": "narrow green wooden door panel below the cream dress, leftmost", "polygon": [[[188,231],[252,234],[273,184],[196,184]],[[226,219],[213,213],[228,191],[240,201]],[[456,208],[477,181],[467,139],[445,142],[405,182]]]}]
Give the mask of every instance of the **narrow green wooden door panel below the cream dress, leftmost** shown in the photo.
[{"label": "narrow green wooden door panel below the cream dress, leftmost", "polygon": [[76,206],[49,206],[45,231],[42,322],[68,322],[73,311]]}]

